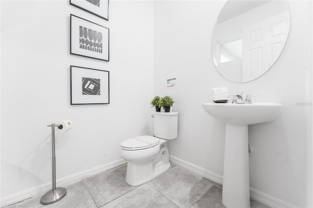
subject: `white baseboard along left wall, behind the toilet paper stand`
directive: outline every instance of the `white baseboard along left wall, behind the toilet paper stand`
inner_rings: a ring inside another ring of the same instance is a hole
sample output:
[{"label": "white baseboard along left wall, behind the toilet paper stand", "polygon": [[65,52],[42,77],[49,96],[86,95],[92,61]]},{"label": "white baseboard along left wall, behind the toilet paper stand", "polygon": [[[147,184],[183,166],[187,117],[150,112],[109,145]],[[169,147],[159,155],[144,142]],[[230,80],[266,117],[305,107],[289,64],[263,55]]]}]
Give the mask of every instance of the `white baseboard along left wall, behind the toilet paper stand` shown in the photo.
[{"label": "white baseboard along left wall, behind the toilet paper stand", "polygon": [[[124,159],[119,159],[110,163],[107,163],[102,166],[97,166],[61,179],[56,180],[56,184],[58,187],[65,187],[71,184],[74,184],[84,178],[96,175],[98,173],[101,173],[103,171],[112,169],[117,166],[121,166],[123,164],[126,164],[127,161]],[[44,194],[46,191],[50,190],[52,187],[52,182],[45,183],[43,185],[37,186],[37,187],[32,187],[23,191],[20,191],[18,193],[2,197],[0,200],[0,206],[2,207],[7,207],[12,204],[16,204],[18,202],[27,200],[29,198],[32,198],[34,196],[39,196],[41,194]]]}]

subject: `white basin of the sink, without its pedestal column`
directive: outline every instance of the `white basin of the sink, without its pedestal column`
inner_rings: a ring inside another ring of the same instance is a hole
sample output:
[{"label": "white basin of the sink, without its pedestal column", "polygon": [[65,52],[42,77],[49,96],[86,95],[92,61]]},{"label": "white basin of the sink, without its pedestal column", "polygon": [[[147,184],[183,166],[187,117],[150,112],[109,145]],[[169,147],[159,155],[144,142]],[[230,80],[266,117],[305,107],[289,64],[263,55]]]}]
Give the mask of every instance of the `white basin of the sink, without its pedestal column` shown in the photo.
[{"label": "white basin of the sink, without its pedestal column", "polygon": [[226,124],[251,125],[274,121],[280,113],[282,104],[202,104],[204,110],[213,118]]}]

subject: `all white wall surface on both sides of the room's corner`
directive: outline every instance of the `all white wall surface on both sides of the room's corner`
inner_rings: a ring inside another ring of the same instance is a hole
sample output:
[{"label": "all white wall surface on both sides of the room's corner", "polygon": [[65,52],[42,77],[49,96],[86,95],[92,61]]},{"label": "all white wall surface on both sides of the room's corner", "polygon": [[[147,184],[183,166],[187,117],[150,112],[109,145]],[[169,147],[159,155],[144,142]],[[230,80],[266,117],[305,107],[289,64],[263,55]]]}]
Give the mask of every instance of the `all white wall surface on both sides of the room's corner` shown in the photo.
[{"label": "all white wall surface on both sides of the room's corner", "polygon": [[[275,122],[249,126],[250,187],[312,207],[312,2],[289,3],[291,31],[280,59],[261,78],[239,84],[224,79],[211,58],[224,1],[111,0],[105,21],[68,0],[1,0],[1,198],[51,181],[46,125],[75,125],[57,136],[63,178],[119,159],[121,141],[151,133],[154,95],[170,95],[179,111],[170,154],[223,175],[225,126],[201,103],[212,102],[211,88],[226,86],[283,104]],[[69,54],[70,13],[110,28],[110,62]],[[110,71],[110,104],[70,105],[71,64]],[[169,78],[175,87],[166,87]]]}]

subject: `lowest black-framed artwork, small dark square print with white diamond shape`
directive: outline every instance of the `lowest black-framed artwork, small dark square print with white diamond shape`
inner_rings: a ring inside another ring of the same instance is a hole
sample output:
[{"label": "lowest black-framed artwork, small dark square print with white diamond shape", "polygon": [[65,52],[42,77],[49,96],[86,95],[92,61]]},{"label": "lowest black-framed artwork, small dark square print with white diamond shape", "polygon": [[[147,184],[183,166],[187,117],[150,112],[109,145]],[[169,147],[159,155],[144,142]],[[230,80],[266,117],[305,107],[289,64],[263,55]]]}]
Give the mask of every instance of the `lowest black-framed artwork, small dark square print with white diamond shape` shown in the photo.
[{"label": "lowest black-framed artwork, small dark square print with white diamond shape", "polygon": [[109,104],[109,71],[70,66],[70,104]]}]

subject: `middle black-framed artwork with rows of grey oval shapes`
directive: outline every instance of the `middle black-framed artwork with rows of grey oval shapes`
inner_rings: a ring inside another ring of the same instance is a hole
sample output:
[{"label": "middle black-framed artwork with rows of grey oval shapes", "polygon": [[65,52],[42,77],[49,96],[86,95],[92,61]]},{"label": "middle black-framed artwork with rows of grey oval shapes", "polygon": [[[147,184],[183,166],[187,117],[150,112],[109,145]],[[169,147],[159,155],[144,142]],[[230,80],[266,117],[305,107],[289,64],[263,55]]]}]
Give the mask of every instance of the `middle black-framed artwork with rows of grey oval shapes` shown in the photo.
[{"label": "middle black-framed artwork with rows of grey oval shapes", "polygon": [[71,14],[70,54],[109,61],[109,28]]}]

